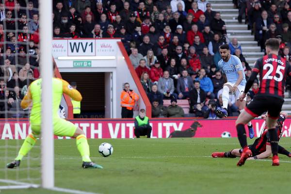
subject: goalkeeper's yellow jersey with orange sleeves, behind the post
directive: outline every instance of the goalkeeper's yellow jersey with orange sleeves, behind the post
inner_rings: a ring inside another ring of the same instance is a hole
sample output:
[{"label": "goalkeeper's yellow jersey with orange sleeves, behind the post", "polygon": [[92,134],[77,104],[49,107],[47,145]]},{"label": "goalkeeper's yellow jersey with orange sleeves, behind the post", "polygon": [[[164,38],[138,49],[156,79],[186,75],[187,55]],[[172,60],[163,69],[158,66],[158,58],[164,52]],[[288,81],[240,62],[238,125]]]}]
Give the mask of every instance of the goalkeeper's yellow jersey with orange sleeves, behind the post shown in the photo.
[{"label": "goalkeeper's yellow jersey with orange sleeves, behind the post", "polygon": [[[41,123],[41,82],[42,79],[38,79],[33,81],[28,91],[21,101],[21,107],[23,109],[27,108],[32,103],[32,110],[30,115],[30,122],[33,124],[40,124]],[[70,84],[62,79],[59,78],[52,78],[52,116],[53,119],[60,118],[58,114],[59,106],[62,100],[63,93],[69,95],[72,99],[76,101],[81,101],[82,96],[80,92]]]}]

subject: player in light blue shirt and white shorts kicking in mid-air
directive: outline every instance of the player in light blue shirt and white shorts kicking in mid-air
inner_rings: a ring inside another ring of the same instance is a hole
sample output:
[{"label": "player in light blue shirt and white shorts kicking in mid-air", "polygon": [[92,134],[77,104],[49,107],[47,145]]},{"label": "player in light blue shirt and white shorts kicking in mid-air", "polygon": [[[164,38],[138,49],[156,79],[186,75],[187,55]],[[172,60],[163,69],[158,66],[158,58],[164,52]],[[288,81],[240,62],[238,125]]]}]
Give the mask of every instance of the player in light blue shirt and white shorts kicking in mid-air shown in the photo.
[{"label": "player in light blue shirt and white shorts kicking in mid-air", "polygon": [[[239,96],[243,93],[246,80],[245,74],[243,72],[242,62],[240,58],[235,55],[230,54],[229,46],[224,44],[220,46],[219,52],[221,55],[221,60],[218,62],[218,66],[222,71],[225,84],[223,86],[222,92],[222,102],[223,109],[217,110],[216,114],[218,117],[227,117],[227,106],[229,100],[229,94],[235,95],[236,99],[239,99]],[[240,101],[238,100],[238,107],[240,112],[244,111],[246,104],[246,97]],[[248,123],[249,136],[253,138],[255,133],[252,126],[252,123]]]}]

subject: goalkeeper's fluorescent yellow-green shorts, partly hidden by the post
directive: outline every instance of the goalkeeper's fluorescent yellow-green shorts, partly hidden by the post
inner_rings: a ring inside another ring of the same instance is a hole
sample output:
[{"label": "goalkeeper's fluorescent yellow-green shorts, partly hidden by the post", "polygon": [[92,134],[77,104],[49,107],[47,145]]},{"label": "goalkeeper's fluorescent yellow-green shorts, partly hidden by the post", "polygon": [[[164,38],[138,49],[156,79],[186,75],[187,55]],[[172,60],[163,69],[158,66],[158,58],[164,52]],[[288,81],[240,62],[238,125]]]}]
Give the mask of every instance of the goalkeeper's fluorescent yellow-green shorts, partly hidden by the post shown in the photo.
[{"label": "goalkeeper's fluorescent yellow-green shorts, partly hidden by the post", "polygon": [[[39,123],[32,123],[32,132],[36,135],[40,134],[41,125]],[[76,132],[77,126],[62,118],[53,118],[53,132],[57,136],[72,137]]]}]

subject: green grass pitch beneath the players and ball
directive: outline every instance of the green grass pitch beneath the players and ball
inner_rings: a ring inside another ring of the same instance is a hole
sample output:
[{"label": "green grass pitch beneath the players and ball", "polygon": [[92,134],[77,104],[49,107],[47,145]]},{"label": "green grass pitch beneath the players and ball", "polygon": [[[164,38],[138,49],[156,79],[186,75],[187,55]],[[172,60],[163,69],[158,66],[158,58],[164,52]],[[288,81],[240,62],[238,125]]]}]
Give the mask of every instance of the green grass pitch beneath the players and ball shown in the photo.
[{"label": "green grass pitch beneath the players and ball", "polygon": [[[82,169],[75,140],[55,141],[55,184],[100,194],[267,194],[290,193],[291,159],[280,156],[280,166],[271,160],[247,161],[237,167],[236,159],[210,157],[214,151],[238,148],[237,138],[176,138],[176,139],[90,139],[93,161],[104,169]],[[16,140],[9,140],[9,157],[16,155]],[[113,145],[114,153],[102,158],[98,146]],[[251,144],[253,140],[248,140]],[[22,141],[18,141],[19,144]],[[0,141],[0,178],[4,178],[5,141]],[[280,144],[291,150],[291,139]],[[37,144],[39,146],[39,142]],[[9,169],[9,178],[39,178],[39,147],[32,149],[30,167],[21,163],[19,171]],[[34,180],[39,183],[39,180]],[[57,194],[43,189],[2,190],[0,194]]]}]

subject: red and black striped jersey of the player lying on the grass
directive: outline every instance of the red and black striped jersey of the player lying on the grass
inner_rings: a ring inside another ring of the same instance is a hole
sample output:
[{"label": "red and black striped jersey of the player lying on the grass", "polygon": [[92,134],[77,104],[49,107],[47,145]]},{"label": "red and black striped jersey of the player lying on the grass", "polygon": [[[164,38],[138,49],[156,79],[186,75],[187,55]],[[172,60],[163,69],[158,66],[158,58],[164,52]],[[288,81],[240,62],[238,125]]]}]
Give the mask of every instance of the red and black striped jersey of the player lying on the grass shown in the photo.
[{"label": "red and black striped jersey of the player lying on the grass", "polygon": [[[278,141],[280,140],[283,133],[283,124],[284,124],[285,119],[286,119],[285,115],[280,114],[277,120],[276,129],[278,132]],[[255,140],[253,146],[255,146],[255,148],[258,150],[259,153],[262,153],[266,151],[267,145],[271,145],[270,143],[271,141],[270,141],[268,129],[265,127],[260,137]]]}]

